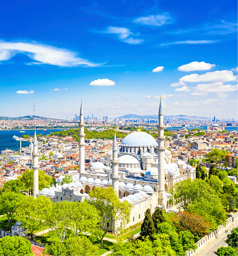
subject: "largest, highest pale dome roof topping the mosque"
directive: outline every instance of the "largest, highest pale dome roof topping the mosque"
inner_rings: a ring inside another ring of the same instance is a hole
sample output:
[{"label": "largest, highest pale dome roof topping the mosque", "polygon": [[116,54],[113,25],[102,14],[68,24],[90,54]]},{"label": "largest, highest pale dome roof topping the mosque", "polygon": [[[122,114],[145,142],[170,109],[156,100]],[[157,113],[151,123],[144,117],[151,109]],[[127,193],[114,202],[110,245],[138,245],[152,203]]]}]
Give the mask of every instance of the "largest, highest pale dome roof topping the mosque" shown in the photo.
[{"label": "largest, highest pale dome roof topping the mosque", "polygon": [[121,146],[157,147],[156,140],[146,132],[132,132],[122,141]]}]

